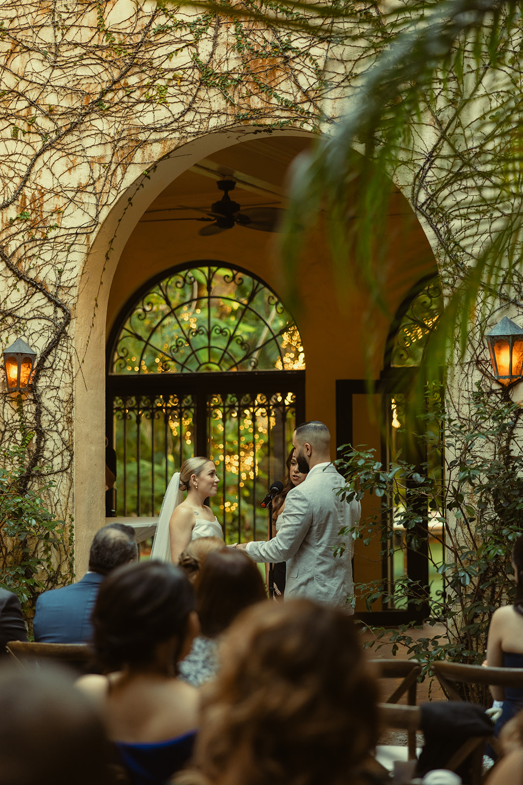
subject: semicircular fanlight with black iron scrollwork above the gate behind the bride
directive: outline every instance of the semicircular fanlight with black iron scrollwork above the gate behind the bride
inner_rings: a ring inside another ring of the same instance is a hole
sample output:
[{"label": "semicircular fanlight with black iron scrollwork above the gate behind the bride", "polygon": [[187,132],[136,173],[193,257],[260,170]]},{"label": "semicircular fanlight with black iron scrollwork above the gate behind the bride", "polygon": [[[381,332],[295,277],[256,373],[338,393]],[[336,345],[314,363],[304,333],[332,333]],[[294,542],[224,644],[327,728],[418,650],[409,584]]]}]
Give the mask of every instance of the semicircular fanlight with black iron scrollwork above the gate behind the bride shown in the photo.
[{"label": "semicircular fanlight with black iron scrollwork above the gate behind the bride", "polygon": [[235,268],[165,278],[136,303],[114,346],[114,374],[301,370],[300,333],[274,292]]}]

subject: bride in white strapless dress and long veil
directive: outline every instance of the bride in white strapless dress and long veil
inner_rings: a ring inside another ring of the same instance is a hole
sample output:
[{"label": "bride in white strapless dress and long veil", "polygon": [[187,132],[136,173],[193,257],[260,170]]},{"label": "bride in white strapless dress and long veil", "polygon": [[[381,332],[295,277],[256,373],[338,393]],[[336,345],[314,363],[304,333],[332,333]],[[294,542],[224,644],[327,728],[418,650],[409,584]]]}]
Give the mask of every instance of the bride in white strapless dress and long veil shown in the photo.
[{"label": "bride in white strapless dress and long veil", "polygon": [[[183,491],[187,498],[183,499]],[[209,458],[189,458],[180,472],[171,477],[165,491],[158,525],[154,534],[151,560],[172,561],[178,564],[180,553],[191,539],[198,537],[223,538],[222,528],[205,498],[216,496],[218,476]]]}]

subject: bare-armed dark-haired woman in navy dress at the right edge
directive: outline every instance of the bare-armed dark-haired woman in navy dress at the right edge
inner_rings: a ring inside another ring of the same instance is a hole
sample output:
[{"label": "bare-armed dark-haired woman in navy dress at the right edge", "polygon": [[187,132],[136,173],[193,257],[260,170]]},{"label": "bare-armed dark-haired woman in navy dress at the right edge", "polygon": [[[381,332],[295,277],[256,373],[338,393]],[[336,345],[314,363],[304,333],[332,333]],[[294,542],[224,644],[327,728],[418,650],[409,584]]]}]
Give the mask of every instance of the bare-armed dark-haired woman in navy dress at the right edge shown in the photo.
[{"label": "bare-armed dark-haired woman in navy dress at the right edge", "polygon": [[[487,666],[523,668],[523,535],[514,542],[512,566],[516,581],[513,605],[504,605],[492,614],[488,628]],[[496,722],[496,736],[503,725],[523,709],[523,690],[491,686],[492,698],[503,701]]]}]

